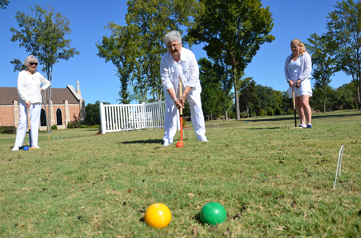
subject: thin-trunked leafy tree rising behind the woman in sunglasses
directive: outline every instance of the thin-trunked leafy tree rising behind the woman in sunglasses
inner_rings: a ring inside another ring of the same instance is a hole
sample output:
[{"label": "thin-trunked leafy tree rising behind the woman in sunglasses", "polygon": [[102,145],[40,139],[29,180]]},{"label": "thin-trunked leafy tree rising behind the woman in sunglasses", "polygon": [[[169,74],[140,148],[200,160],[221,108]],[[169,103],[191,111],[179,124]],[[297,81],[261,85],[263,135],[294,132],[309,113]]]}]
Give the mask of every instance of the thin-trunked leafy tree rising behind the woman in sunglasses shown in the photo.
[{"label": "thin-trunked leafy tree rising behind the woman in sunglasses", "polygon": [[[31,11],[29,15],[25,15],[23,12],[16,13],[15,18],[21,30],[10,28],[10,31],[14,33],[11,41],[19,41],[20,47],[24,47],[26,52],[38,58],[39,64],[43,65],[42,70],[45,77],[51,82],[53,65],[58,63],[59,59],[69,60],[74,55],[78,55],[79,52],[70,47],[71,39],[65,39],[65,35],[71,33],[70,22],[65,16],[61,15],[61,13],[54,14],[54,9],[51,6],[48,6],[49,10],[44,10],[39,5],[35,5],[35,9],[29,8]],[[10,63],[14,64],[14,72],[22,69],[20,60],[14,59]],[[45,92],[43,92],[47,128],[51,131],[51,87],[47,92],[48,114],[46,113]]]}]

